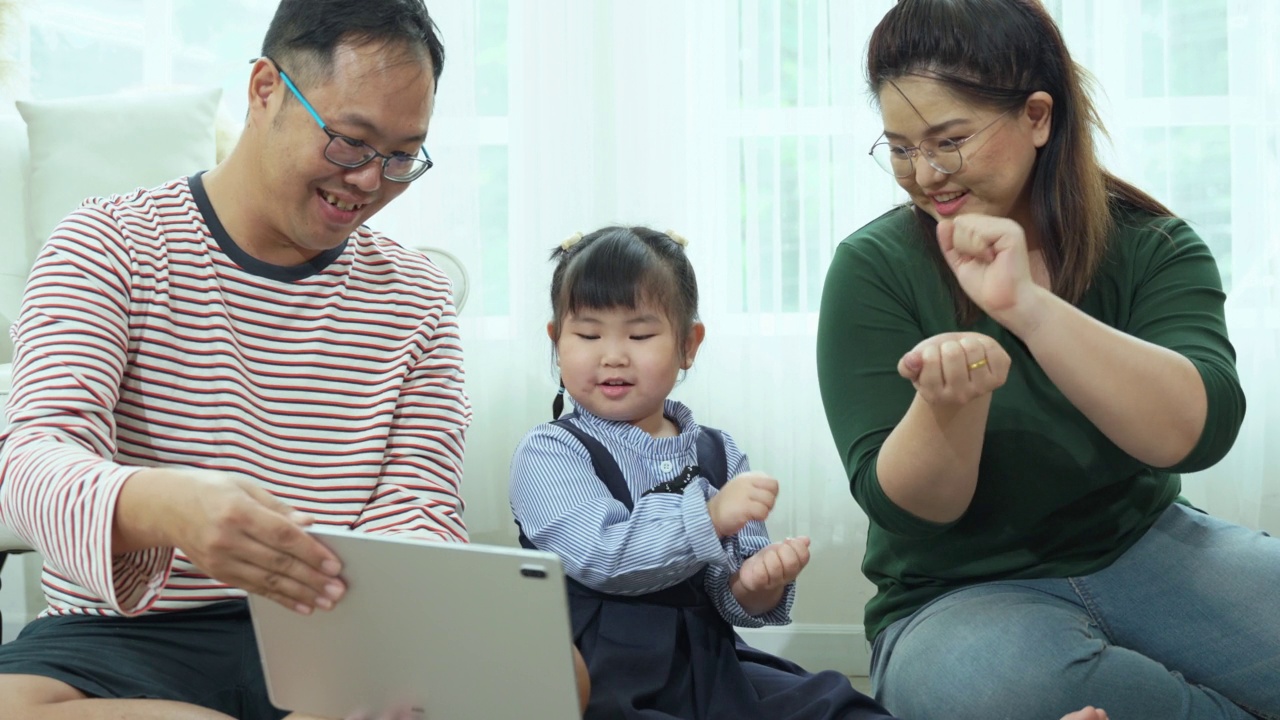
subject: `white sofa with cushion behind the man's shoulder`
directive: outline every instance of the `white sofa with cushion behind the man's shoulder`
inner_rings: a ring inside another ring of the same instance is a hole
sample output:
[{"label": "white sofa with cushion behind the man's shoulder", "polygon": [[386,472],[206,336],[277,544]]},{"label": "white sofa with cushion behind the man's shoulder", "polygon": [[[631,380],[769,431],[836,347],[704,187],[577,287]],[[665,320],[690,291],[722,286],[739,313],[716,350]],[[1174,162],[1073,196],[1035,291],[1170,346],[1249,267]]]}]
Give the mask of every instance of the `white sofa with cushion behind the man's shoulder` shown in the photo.
[{"label": "white sofa with cushion behind the man's shoulder", "polygon": [[[216,88],[187,88],[0,108],[0,406],[12,382],[9,327],[52,225],[84,197],[154,186],[212,165],[220,95]],[[0,428],[3,423],[0,415]],[[27,550],[0,525],[0,557]],[[5,638],[42,607],[40,564],[36,555],[5,562]]]}]

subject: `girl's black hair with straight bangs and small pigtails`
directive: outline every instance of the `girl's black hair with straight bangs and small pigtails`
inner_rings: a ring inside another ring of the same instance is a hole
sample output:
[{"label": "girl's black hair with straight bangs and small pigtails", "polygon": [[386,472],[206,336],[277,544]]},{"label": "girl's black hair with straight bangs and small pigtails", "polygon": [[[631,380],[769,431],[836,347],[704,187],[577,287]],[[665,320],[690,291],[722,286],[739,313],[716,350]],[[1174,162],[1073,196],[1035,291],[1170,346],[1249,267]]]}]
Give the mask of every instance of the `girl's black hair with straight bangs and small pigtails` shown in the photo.
[{"label": "girl's black hair with straight bangs and small pigtails", "polygon": [[[564,318],[582,310],[634,310],[653,305],[671,322],[684,354],[698,322],[698,278],[684,246],[645,227],[608,227],[552,251],[552,343]],[[563,409],[563,384],[553,405]]]}]

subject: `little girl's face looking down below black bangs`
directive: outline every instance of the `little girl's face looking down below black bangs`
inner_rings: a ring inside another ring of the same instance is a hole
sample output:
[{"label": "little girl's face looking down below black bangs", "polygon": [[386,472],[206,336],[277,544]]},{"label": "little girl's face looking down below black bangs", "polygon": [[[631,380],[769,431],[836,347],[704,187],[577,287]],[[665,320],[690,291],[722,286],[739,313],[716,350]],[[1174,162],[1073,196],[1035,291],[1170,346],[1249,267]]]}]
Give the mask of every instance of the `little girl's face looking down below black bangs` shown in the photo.
[{"label": "little girl's face looking down below black bangs", "polygon": [[[554,324],[547,333],[556,341]],[[631,423],[654,437],[672,434],[663,402],[680,370],[694,364],[704,333],[695,323],[681,354],[667,314],[652,305],[570,314],[556,341],[564,389],[593,415]]]}]

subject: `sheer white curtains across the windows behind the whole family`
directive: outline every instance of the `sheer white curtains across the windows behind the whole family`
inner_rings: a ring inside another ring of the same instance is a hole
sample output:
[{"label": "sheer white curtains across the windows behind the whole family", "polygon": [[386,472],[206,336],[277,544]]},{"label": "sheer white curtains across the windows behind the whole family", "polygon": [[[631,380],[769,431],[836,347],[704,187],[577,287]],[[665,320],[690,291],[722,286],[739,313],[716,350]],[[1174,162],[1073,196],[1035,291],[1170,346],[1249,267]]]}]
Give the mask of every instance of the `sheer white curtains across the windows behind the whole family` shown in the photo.
[{"label": "sheer white curtains across the windows behind the whole family", "polygon": [[[1056,0],[1098,81],[1112,169],[1187,217],[1229,284],[1249,410],[1230,456],[1187,478],[1202,507],[1280,532],[1280,9],[1266,0]],[[429,147],[438,165],[374,220],[457,254],[475,425],[467,520],[513,542],[507,468],[550,414],[547,255],[607,223],[686,236],[708,327],[677,387],[783,491],[778,536],[814,560],[796,609],[818,662],[865,662],[867,519],[849,496],[814,377],[814,327],[835,245],[901,200],[865,156],[879,133],[863,81],[890,0],[430,0],[448,59]],[[225,87],[243,115],[247,60],[270,0],[28,0],[19,92]],[[123,58],[123,59],[122,59]],[[826,643],[826,644],[823,644]],[[801,643],[803,644],[803,643]]]}]

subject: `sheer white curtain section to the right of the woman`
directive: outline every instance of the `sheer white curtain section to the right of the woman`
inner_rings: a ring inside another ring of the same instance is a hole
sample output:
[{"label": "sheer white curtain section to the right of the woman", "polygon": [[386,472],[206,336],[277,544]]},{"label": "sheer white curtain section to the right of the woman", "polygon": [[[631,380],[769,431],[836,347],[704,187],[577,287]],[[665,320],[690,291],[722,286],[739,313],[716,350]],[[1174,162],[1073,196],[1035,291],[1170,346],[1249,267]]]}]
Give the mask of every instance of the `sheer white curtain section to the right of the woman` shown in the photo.
[{"label": "sheer white curtain section to the right of the woman", "polygon": [[[1098,79],[1108,165],[1187,218],[1213,249],[1248,400],[1228,457],[1184,478],[1197,506],[1280,533],[1280,6],[1257,0],[1060,0]],[[1268,438],[1271,442],[1268,442]]]}]

